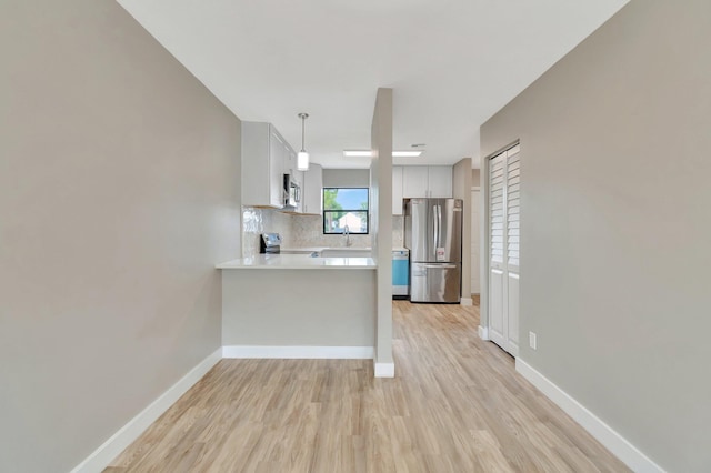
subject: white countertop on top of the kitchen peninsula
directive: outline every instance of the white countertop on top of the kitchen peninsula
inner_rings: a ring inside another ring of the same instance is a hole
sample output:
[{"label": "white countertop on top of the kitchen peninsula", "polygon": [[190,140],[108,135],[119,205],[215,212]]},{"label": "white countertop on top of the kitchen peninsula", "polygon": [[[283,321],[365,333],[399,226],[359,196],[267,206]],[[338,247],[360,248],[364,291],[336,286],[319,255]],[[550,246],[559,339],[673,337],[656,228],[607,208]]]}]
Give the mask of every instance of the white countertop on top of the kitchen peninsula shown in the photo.
[{"label": "white countertop on top of the kitchen peninsula", "polygon": [[372,258],[311,258],[308,254],[259,254],[226,261],[219,270],[373,270]]}]

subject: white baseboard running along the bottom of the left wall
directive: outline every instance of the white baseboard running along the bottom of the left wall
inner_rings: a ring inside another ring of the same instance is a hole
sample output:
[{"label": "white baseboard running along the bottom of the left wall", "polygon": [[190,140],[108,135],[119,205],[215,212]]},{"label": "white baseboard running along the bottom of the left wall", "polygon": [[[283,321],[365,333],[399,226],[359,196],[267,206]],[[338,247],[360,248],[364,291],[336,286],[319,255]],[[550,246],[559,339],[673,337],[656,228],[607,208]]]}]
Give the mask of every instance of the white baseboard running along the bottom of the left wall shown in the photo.
[{"label": "white baseboard running along the bottom of the left wall", "polygon": [[72,473],[96,473],[107,467],[127,446],[139,437],[163,412],[180,399],[193,384],[207,374],[222,359],[222,349],[202,360],[197,366],[182,376],[168,391],[162,393],[148,407],[131,419],[109,440],[103,442],[91,455],[77,465]]}]

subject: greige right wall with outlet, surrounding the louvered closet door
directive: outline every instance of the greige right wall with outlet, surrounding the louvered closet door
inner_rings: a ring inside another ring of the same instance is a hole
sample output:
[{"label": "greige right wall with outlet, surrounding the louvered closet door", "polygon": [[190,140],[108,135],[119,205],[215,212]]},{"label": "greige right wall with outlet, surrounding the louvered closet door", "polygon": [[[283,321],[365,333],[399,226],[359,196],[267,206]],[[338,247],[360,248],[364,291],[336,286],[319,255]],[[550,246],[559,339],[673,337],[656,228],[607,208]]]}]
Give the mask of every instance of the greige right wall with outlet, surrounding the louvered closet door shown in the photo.
[{"label": "greige right wall with outlet, surrounding the louvered closet door", "polygon": [[633,0],[481,129],[521,140],[521,359],[675,472],[711,471],[710,22]]}]

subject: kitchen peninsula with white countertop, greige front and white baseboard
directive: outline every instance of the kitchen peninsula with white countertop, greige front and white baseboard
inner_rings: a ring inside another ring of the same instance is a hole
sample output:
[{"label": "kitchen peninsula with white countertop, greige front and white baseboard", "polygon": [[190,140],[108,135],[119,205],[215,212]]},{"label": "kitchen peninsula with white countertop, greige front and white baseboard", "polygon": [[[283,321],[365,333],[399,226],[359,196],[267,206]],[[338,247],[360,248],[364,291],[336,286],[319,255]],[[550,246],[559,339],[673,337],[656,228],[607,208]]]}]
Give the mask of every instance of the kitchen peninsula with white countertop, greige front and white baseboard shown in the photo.
[{"label": "kitchen peninsula with white countertop, greige front and white baseboard", "polygon": [[372,258],[260,254],[217,268],[224,358],[373,356]]}]

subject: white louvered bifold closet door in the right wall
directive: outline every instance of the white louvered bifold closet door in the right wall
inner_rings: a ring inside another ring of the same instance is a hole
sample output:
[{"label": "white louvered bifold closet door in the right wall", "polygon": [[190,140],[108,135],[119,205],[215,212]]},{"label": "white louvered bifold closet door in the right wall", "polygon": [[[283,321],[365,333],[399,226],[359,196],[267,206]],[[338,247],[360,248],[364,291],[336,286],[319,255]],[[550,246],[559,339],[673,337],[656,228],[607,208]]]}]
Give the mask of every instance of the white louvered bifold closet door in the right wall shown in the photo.
[{"label": "white louvered bifold closet door in the right wall", "polygon": [[489,163],[489,338],[519,353],[520,147]]}]

